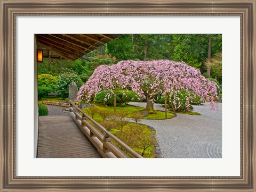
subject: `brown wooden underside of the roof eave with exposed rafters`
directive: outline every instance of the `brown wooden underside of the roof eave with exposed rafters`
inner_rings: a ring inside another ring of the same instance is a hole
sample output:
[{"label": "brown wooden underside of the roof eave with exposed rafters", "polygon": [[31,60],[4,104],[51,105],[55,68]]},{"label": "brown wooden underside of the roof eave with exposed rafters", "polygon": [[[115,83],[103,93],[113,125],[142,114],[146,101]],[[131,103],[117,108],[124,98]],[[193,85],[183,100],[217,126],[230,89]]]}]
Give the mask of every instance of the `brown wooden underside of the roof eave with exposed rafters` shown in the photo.
[{"label": "brown wooden underside of the roof eave with exposed rafters", "polygon": [[36,34],[43,58],[74,61],[122,34]]}]

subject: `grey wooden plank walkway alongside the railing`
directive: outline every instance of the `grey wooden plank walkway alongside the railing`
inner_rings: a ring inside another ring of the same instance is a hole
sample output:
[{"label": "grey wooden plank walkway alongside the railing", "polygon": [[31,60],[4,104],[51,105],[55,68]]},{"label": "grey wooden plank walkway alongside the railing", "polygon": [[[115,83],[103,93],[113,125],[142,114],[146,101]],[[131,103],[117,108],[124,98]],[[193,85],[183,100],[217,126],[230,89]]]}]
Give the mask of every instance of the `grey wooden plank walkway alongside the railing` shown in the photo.
[{"label": "grey wooden plank walkway alongside the railing", "polygon": [[101,157],[65,107],[46,106],[49,115],[39,116],[38,158]]}]

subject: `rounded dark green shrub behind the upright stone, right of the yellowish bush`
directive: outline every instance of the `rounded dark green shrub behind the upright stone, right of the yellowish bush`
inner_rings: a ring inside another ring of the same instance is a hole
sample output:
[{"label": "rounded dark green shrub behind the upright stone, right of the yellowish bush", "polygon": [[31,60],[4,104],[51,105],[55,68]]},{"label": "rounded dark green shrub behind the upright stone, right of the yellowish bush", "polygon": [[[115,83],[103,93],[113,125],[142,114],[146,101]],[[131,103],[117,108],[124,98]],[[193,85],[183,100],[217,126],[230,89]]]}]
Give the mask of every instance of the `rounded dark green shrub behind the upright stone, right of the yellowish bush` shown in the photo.
[{"label": "rounded dark green shrub behind the upright stone, right of the yellowish bush", "polygon": [[69,93],[68,86],[72,81],[76,83],[78,89],[83,85],[82,80],[74,72],[64,72],[60,74],[56,84],[57,94],[62,98],[67,98]]}]

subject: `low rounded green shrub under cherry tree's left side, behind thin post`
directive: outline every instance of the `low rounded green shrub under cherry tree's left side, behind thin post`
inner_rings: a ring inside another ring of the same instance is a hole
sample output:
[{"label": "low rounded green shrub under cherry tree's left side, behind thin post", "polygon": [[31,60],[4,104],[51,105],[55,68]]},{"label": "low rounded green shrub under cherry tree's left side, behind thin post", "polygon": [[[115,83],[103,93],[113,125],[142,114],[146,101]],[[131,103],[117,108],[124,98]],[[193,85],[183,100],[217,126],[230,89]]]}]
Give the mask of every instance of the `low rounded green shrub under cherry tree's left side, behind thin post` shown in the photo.
[{"label": "low rounded green shrub under cherry tree's left side, behind thin post", "polygon": [[[117,106],[125,106],[127,103],[133,101],[134,98],[136,98],[136,94],[134,93],[134,91],[116,91]],[[114,106],[114,93],[110,90],[102,90],[95,96],[95,100],[108,106]]]}]

